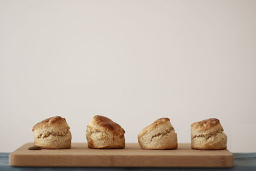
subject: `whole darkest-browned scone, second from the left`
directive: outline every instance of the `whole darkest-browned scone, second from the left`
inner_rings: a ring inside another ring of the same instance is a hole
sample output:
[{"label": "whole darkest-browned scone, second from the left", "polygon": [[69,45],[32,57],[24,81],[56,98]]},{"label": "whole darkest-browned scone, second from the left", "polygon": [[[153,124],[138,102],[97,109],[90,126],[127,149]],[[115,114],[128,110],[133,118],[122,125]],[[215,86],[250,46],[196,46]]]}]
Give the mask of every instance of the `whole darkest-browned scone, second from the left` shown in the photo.
[{"label": "whole darkest-browned scone, second from the left", "polygon": [[91,149],[122,149],[125,147],[124,129],[108,117],[95,115],[86,129]]}]

